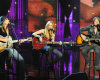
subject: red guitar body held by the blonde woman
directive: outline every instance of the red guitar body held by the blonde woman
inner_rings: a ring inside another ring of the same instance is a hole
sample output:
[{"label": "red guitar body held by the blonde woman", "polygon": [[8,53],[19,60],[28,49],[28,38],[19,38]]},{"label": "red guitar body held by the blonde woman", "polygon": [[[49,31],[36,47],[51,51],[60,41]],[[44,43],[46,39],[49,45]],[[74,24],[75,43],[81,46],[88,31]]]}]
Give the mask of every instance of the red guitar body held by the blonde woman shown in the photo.
[{"label": "red guitar body held by the blonde woman", "polygon": [[42,38],[42,43],[39,41],[37,37],[33,38],[33,48],[34,49],[41,49],[43,46],[47,46],[47,42],[49,42],[49,39],[47,38]]}]

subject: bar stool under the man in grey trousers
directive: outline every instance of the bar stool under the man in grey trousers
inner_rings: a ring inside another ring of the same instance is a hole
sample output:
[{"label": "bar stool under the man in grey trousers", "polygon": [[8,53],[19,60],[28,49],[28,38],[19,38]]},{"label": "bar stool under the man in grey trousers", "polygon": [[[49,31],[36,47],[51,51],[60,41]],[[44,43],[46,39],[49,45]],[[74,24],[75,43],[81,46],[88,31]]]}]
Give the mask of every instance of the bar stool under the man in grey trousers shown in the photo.
[{"label": "bar stool under the man in grey trousers", "polygon": [[[91,50],[89,50],[89,52],[90,52],[90,58],[89,58],[89,61],[93,61],[93,67],[91,67],[91,63],[89,63],[89,79],[90,79],[90,69],[93,69],[93,80],[95,80],[95,65],[94,65],[94,62],[95,62],[95,59],[94,59],[94,53],[95,53],[95,51],[94,51],[94,49],[91,49]],[[91,54],[93,55],[93,60],[92,60],[92,58],[91,58]],[[84,67],[84,71],[85,71],[85,69],[86,69],[86,62],[85,62],[85,67]]]}]

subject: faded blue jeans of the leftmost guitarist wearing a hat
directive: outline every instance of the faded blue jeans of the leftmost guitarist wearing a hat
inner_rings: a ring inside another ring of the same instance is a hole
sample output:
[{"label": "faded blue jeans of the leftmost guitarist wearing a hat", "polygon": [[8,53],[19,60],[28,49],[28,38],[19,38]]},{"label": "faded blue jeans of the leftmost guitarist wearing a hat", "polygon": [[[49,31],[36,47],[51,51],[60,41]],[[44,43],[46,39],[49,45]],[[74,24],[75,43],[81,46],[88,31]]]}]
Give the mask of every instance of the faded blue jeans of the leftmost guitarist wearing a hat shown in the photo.
[{"label": "faded blue jeans of the leftmost guitarist wearing a hat", "polygon": [[6,48],[3,52],[0,53],[0,57],[4,58],[7,57],[7,62],[12,66],[12,58],[14,58],[17,62],[16,73],[17,73],[17,80],[24,80],[24,59],[23,57],[17,52],[16,49],[13,48]]}]

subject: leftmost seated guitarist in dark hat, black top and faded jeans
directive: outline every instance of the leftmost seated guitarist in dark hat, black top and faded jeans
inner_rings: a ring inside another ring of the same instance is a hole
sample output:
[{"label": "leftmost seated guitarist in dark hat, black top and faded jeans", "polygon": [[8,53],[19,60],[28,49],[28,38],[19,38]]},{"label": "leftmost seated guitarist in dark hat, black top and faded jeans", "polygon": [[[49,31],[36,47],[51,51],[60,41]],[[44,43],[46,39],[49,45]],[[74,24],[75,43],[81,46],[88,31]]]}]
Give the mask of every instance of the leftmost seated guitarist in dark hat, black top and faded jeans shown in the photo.
[{"label": "leftmost seated guitarist in dark hat, black top and faded jeans", "polygon": [[[12,39],[14,39],[13,32],[11,28],[8,27],[9,19],[6,16],[0,17],[0,41],[7,43],[9,41],[9,37],[11,36]],[[22,43],[23,40],[20,40],[20,43]],[[0,44],[1,45],[1,44]],[[9,45],[9,44],[6,44]],[[5,46],[6,46],[5,45]],[[1,47],[0,47],[1,49]],[[18,51],[14,48],[7,47],[3,51],[0,51],[0,67],[3,68],[4,64],[4,58],[7,56],[7,67],[10,69],[13,69],[12,66],[12,58],[18,62],[18,69],[16,67],[16,73],[17,73],[17,80],[24,80],[24,59],[23,57],[18,53]],[[2,67],[3,66],[3,67]]]}]

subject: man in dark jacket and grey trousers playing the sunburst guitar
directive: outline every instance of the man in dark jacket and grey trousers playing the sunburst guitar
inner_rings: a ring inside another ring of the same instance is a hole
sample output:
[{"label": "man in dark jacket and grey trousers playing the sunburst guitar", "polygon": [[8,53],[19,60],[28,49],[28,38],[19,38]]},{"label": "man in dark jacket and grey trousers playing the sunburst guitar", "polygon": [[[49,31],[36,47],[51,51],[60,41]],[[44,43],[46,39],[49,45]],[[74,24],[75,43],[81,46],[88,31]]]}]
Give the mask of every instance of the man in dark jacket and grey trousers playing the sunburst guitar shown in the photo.
[{"label": "man in dark jacket and grey trousers playing the sunburst guitar", "polygon": [[[82,39],[84,41],[88,41],[87,36],[82,34],[82,31],[88,31],[88,35],[90,35],[91,38],[100,38],[100,29],[99,28],[100,28],[100,18],[94,17],[93,24],[80,28],[80,34],[81,34]],[[98,70],[99,69],[99,56],[100,56],[99,40],[94,40],[94,41],[90,41],[90,42],[91,42],[91,45],[88,45],[88,43],[87,43],[83,47],[82,54],[87,63],[87,68],[89,68],[90,60],[89,60],[89,56],[88,56],[88,51],[91,49],[94,49],[94,51],[95,51],[95,69]]]}]

